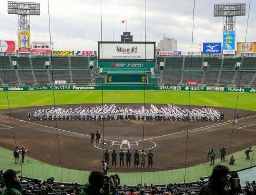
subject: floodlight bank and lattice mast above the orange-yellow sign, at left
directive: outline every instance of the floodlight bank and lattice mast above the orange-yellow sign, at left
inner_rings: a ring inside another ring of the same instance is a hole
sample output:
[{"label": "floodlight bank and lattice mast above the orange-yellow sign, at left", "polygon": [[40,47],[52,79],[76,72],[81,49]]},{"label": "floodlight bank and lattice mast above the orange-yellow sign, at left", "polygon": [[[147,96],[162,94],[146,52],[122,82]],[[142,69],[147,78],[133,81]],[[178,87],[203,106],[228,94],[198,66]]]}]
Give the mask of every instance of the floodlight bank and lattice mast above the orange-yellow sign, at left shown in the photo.
[{"label": "floodlight bank and lattice mast above the orange-yellow sign, at left", "polygon": [[40,3],[8,1],[8,14],[18,15],[18,30],[30,30],[30,16],[40,15]]}]

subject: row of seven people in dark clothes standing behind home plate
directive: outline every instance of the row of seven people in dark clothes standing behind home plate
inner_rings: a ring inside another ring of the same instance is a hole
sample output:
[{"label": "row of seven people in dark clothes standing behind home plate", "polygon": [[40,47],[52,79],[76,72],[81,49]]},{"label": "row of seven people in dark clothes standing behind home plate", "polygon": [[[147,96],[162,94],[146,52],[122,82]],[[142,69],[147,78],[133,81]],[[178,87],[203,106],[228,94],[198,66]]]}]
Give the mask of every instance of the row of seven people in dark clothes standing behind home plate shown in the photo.
[{"label": "row of seven people in dark clothes standing behind home plate", "polygon": [[[117,152],[115,152],[115,150],[112,151],[112,167],[115,166],[117,167]],[[144,152],[144,150],[142,150],[141,153],[138,152],[138,150],[135,150],[134,152],[134,167],[139,167],[139,164],[141,162],[141,167],[145,167],[145,163],[146,163],[146,156],[147,156],[147,163],[148,163],[148,167],[153,166],[154,161],[153,161],[153,156],[154,154],[152,153],[152,151],[150,150],[149,153],[146,155],[146,152]],[[104,153],[104,159],[105,162],[103,161],[103,163],[106,163],[106,165],[109,166],[109,156],[110,153],[108,150],[105,151]],[[131,167],[131,152],[130,150],[127,150],[127,152],[123,152],[123,150],[121,150],[121,152],[119,152],[119,166],[122,167],[124,166],[123,163],[123,159],[126,156],[126,167]]]}]

